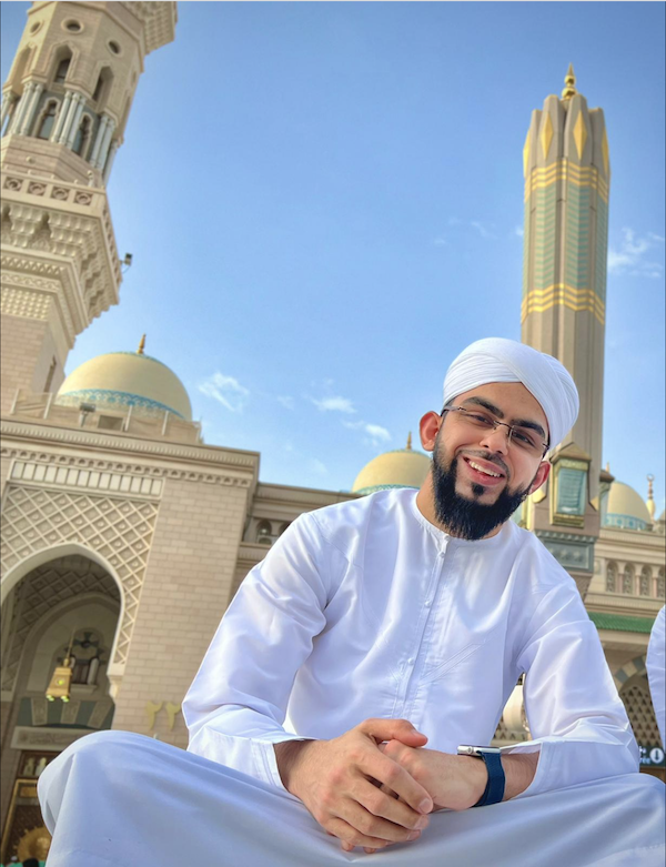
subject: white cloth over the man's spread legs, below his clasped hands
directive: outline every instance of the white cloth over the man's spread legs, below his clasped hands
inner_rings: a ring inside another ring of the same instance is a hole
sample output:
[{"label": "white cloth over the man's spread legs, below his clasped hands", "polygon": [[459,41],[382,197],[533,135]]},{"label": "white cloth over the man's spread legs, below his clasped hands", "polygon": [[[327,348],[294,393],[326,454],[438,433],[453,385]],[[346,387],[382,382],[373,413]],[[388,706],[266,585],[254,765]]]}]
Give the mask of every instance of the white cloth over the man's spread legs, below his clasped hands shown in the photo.
[{"label": "white cloth over the man's spread legs, below his clasped hands", "polygon": [[665,792],[629,774],[436,813],[421,839],[366,855],[289,794],[128,732],[77,740],[39,779],[48,867],[664,867]]}]

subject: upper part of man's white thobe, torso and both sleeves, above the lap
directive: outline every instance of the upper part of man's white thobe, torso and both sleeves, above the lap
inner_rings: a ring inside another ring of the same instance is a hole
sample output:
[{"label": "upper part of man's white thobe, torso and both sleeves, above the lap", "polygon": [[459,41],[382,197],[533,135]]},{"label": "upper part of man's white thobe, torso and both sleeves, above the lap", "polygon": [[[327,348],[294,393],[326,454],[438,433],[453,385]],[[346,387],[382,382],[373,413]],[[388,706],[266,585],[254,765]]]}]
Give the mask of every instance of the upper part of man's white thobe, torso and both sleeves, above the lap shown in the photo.
[{"label": "upper part of man's white thobe, torso and both sleeves, above the lap", "polygon": [[301,515],[250,572],[183,703],[189,748],[278,787],[274,743],[369,717],[455,753],[491,743],[521,674],[534,739],[505,749],[541,750],[524,795],[637,769],[597,631],[536,536],[454,538],[383,491]]}]

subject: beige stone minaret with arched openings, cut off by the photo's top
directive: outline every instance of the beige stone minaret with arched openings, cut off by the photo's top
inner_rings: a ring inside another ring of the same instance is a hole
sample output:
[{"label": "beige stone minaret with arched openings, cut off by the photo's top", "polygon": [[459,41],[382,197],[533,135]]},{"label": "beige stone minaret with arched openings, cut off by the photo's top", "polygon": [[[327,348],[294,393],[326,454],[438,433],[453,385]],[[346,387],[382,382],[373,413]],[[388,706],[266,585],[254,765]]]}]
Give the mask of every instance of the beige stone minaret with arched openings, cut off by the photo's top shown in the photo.
[{"label": "beige stone minaret with arched openings, cut off by the photo's top", "polygon": [[2,413],[56,392],[74,340],[118,303],[105,184],[145,56],[174,2],[34,2],[2,89]]}]

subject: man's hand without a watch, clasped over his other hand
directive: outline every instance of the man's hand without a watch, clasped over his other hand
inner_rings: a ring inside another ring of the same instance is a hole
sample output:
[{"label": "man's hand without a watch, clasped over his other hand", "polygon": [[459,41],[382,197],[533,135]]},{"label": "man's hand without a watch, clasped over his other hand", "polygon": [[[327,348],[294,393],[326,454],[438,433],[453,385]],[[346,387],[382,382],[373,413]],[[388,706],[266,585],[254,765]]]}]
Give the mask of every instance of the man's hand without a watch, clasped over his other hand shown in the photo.
[{"label": "man's hand without a watch, clasped over his other hand", "polygon": [[[347,851],[354,846],[381,849],[415,840],[427,826],[431,796],[379,749],[379,744],[391,739],[413,747],[427,743],[406,719],[366,719],[332,740],[274,745],[284,787]],[[400,800],[384,794],[381,785]]]}]

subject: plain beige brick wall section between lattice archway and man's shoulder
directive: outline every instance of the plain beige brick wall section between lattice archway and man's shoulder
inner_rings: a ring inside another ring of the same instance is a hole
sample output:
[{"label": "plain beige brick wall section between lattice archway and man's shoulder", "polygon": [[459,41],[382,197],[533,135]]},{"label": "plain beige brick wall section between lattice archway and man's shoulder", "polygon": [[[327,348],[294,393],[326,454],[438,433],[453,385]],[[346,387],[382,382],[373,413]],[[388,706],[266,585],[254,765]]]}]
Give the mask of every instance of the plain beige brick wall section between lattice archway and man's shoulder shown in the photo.
[{"label": "plain beige brick wall section between lattice archway and man's shoulder", "polygon": [[229,604],[246,512],[244,488],[168,481],[114,728],[186,746],[180,704]]}]

